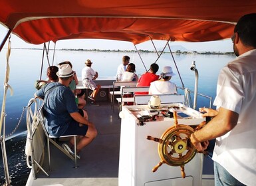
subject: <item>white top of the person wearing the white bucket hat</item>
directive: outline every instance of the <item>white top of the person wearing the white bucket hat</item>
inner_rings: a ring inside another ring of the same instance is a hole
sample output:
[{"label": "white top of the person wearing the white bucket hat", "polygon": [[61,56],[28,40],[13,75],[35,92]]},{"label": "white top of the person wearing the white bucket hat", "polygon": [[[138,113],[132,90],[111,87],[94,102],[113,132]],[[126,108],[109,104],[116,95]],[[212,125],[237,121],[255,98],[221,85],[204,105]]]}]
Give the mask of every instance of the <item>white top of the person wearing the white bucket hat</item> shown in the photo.
[{"label": "white top of the person wearing the white bucket hat", "polygon": [[154,81],[150,83],[148,94],[176,94],[177,88],[173,82],[170,81]]}]

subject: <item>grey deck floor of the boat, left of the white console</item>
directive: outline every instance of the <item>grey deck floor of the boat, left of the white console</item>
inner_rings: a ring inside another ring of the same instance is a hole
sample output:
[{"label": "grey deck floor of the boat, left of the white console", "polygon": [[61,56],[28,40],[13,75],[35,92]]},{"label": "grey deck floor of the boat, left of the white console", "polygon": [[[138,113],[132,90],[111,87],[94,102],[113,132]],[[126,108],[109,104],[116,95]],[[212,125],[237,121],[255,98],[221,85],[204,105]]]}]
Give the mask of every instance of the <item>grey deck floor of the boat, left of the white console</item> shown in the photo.
[{"label": "grey deck floor of the boat, left of the white console", "polygon": [[[28,186],[118,185],[121,119],[118,117],[117,108],[113,112],[109,102],[99,103],[101,104],[99,107],[86,106],[89,120],[96,125],[98,136],[90,145],[80,151],[79,167],[74,168],[74,162],[51,145],[51,172],[49,172],[48,167],[47,150],[45,150],[43,164],[43,167],[49,173],[49,177],[39,171],[37,179],[33,179],[31,173],[27,182]],[[212,169],[212,167],[208,168]],[[202,185],[214,185],[213,175],[203,175]]]}]

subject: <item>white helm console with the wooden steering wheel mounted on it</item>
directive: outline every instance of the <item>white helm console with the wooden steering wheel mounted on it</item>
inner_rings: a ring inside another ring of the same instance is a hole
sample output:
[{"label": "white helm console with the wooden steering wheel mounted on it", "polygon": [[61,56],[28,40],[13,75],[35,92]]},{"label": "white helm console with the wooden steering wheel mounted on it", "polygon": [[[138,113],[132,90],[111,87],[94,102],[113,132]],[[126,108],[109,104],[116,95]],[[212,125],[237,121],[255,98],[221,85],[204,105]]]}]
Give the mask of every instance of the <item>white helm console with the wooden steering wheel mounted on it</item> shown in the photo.
[{"label": "white helm console with the wooden steering wheel mounted on it", "polygon": [[[163,104],[180,106],[188,117],[182,118],[178,112],[178,124],[190,126],[199,125],[204,121],[201,114],[182,104]],[[119,186],[200,186],[203,167],[203,155],[197,153],[192,161],[185,165],[186,178],[182,178],[180,166],[173,167],[164,163],[156,172],[152,172],[159,161],[158,142],[147,140],[147,136],[160,138],[162,134],[174,125],[174,118],[159,117],[156,121],[145,122],[138,126],[138,117],[152,114],[147,105],[124,106],[120,112],[122,118],[120,136]],[[153,114],[154,115],[154,114]],[[180,118],[180,119],[179,119]]]}]

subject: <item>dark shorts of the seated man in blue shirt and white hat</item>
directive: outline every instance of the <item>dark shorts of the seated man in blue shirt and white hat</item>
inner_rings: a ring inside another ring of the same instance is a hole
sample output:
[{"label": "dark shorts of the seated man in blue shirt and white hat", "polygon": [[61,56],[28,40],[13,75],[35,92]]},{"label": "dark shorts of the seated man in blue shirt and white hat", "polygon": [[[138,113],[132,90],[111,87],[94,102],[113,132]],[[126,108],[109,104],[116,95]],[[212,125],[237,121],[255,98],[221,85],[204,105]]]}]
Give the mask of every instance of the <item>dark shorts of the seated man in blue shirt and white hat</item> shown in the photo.
[{"label": "dark shorts of the seated man in blue shirt and white hat", "polygon": [[[78,112],[81,116],[84,116],[84,112],[82,111],[82,109],[79,109]],[[70,124],[68,125],[68,128],[64,132],[63,136],[67,136],[67,135],[85,136],[87,133],[87,130],[88,130],[87,125],[84,125],[84,124],[80,125],[75,120],[72,120],[72,122],[70,122]]]}]

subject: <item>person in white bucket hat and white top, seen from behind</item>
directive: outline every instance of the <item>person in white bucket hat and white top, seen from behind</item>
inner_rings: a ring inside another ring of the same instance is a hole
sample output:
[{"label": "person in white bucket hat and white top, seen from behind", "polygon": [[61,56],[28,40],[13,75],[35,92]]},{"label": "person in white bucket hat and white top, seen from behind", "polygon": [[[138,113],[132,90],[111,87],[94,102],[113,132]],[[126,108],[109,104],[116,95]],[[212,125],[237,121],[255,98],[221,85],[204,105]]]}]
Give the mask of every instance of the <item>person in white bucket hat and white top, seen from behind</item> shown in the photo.
[{"label": "person in white bucket hat and white top, seen from behind", "polygon": [[162,73],[160,74],[160,80],[156,80],[150,83],[149,94],[177,94],[176,84],[171,82],[172,76],[174,76],[171,66],[164,66]]}]

